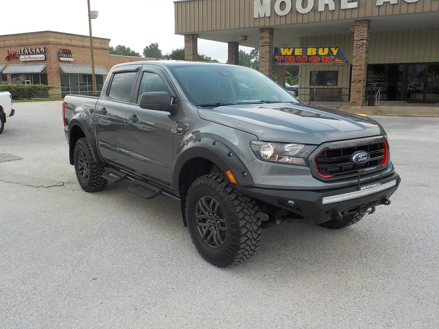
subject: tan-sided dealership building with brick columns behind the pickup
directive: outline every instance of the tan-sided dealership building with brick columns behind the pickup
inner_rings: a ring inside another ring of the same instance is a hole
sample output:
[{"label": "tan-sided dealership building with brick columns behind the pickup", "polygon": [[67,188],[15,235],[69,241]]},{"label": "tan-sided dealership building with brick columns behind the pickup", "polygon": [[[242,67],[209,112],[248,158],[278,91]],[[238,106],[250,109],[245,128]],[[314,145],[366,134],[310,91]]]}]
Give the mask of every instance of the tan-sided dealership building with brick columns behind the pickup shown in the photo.
[{"label": "tan-sided dealership building with brick columns behind the pickup", "polygon": [[[277,66],[281,85],[285,65],[299,65],[305,101],[317,90],[362,106],[381,90],[381,100],[439,103],[438,0],[182,0],[175,32],[187,60],[202,38],[228,43],[232,64],[239,45],[259,48],[259,70],[273,77]],[[275,47],[333,47],[347,63],[275,63]]]}]

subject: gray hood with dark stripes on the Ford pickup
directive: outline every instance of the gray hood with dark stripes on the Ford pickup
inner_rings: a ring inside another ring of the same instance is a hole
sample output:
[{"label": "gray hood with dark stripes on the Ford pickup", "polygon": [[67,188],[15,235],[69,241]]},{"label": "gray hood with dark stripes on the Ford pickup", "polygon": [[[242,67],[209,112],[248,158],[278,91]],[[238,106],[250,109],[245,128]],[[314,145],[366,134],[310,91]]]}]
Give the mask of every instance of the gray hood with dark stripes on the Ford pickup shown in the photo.
[{"label": "gray hood with dark stripes on the Ford pickup", "polygon": [[385,135],[381,125],[362,116],[306,104],[242,104],[198,108],[202,119],[256,135],[259,140],[321,144]]}]

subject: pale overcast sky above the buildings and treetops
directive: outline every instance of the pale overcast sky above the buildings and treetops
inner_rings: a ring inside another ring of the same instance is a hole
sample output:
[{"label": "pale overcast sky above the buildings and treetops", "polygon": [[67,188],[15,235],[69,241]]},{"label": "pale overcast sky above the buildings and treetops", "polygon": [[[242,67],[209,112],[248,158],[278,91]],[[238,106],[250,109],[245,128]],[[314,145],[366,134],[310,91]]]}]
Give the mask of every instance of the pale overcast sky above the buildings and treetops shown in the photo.
[{"label": "pale overcast sky above the buildings and treetops", "polygon": [[[163,54],[184,47],[184,36],[174,34],[173,0],[90,0],[90,4],[91,10],[99,11],[92,21],[93,35],[111,39],[110,46],[122,44],[140,54],[150,43],[158,43]],[[89,33],[87,0],[1,0],[0,8],[0,35],[45,30]],[[199,39],[198,52],[227,61],[227,43]]]}]

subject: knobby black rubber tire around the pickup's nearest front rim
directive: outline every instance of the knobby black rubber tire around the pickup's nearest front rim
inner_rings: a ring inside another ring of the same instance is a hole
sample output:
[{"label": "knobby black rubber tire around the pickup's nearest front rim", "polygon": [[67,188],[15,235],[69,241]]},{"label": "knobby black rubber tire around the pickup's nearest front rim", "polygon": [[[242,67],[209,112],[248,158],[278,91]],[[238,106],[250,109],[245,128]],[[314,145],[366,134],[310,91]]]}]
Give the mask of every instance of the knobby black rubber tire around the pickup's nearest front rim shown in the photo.
[{"label": "knobby black rubber tire around the pickup's nearest front rim", "polygon": [[[197,205],[204,197],[216,200],[227,225],[223,245],[216,249],[203,240],[197,225]],[[259,247],[261,219],[256,200],[236,190],[223,174],[202,176],[192,183],[187,192],[186,218],[189,234],[198,253],[215,266],[226,267],[241,263],[252,257]]]}]

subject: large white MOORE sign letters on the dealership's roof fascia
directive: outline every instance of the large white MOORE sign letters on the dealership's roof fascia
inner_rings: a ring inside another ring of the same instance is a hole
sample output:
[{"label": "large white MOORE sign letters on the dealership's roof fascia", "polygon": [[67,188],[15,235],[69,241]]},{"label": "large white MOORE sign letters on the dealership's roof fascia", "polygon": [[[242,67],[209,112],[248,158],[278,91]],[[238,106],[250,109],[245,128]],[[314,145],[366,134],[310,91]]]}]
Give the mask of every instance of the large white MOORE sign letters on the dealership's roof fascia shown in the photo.
[{"label": "large white MOORE sign letters on the dealership's roof fascia", "polygon": [[[254,0],[254,18],[259,17],[270,17],[271,16],[271,2],[272,0]],[[398,4],[399,2],[405,1],[408,4],[413,4],[419,0],[340,0],[340,9],[353,9],[358,8],[359,1],[376,1],[376,6],[382,6],[385,3]],[[279,16],[287,15],[293,8],[295,4],[295,9],[300,14],[307,14],[313,10],[314,6],[318,6],[319,11],[335,10],[335,0],[275,0],[274,1],[274,11]]]}]

